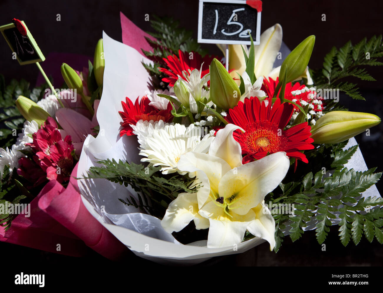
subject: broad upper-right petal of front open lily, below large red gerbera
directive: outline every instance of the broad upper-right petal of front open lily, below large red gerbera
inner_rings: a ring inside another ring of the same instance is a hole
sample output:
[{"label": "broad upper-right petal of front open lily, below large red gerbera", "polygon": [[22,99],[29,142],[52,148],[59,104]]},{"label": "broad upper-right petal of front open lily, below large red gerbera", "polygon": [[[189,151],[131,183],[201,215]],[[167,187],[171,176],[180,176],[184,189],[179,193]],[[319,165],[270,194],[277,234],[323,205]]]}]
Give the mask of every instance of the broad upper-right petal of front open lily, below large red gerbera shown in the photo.
[{"label": "broad upper-right petal of front open lily, below large red gerbera", "polygon": [[[229,208],[237,214],[247,214],[264,200],[285,177],[290,160],[285,152],[270,154],[255,162],[227,172],[219,182],[219,194],[232,199]],[[235,202],[234,202],[235,201]]]}]

